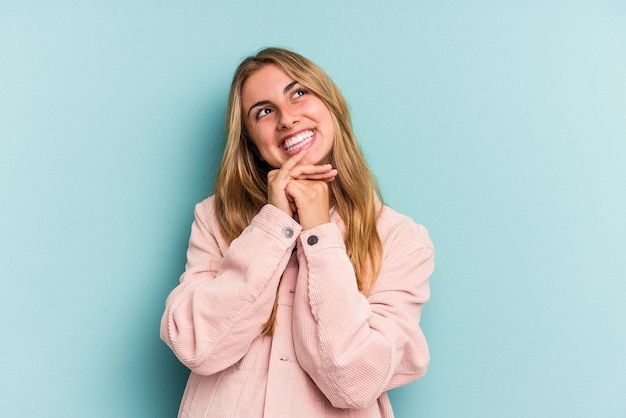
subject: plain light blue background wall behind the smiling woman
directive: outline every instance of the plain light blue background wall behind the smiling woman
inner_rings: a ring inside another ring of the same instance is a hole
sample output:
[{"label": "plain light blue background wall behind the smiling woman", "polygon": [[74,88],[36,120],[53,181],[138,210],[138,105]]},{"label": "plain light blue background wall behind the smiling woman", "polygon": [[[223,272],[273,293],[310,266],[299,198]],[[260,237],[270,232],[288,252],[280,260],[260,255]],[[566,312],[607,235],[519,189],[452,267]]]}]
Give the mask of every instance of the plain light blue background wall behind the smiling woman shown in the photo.
[{"label": "plain light blue background wall behind the smiling woman", "polygon": [[0,1],[0,416],[171,417],[228,84],[293,48],[437,246],[398,417],[626,416],[626,3]]}]

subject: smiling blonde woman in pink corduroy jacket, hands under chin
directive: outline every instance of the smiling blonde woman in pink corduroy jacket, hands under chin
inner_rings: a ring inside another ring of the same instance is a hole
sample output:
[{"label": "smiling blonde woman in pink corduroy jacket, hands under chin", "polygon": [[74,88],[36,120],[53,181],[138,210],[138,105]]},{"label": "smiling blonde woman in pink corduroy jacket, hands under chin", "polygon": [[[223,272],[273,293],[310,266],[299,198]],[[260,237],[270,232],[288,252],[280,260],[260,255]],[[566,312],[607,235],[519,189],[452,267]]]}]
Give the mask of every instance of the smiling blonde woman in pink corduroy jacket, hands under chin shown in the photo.
[{"label": "smiling blonde woman in pink corduroy jacket, hands under chin", "polygon": [[330,78],[284,49],[245,59],[161,322],[192,371],[179,416],[393,416],[386,391],[428,365],[433,260],[378,199]]}]

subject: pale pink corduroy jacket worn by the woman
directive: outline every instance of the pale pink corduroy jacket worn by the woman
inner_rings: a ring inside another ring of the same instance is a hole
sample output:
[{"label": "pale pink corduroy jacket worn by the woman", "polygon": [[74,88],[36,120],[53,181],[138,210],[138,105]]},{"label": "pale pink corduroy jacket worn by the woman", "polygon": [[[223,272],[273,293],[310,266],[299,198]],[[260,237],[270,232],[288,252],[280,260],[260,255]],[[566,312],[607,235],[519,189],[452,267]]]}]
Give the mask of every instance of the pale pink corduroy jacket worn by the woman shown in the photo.
[{"label": "pale pink corduroy jacket worn by the woman", "polygon": [[[426,229],[384,207],[384,254],[359,293],[344,223],[302,231],[266,205],[230,246],[214,199],[199,203],[187,265],[161,338],[192,371],[179,417],[392,417],[386,391],[424,375],[419,327],[434,249]],[[273,336],[260,336],[279,300]]]}]

